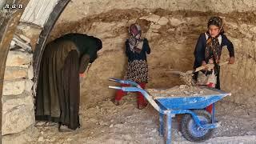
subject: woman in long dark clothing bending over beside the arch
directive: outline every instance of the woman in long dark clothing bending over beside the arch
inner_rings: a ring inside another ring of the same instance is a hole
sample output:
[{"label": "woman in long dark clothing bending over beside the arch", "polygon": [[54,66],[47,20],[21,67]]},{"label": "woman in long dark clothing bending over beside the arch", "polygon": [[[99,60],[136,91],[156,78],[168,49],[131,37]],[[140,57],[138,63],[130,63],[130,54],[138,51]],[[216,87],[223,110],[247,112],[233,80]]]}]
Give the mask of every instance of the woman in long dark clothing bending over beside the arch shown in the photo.
[{"label": "woman in long dark clothing bending over beside the arch", "polygon": [[79,74],[97,58],[102,41],[86,34],[66,34],[50,42],[42,56],[36,96],[36,120],[58,122],[76,130],[79,124]]}]

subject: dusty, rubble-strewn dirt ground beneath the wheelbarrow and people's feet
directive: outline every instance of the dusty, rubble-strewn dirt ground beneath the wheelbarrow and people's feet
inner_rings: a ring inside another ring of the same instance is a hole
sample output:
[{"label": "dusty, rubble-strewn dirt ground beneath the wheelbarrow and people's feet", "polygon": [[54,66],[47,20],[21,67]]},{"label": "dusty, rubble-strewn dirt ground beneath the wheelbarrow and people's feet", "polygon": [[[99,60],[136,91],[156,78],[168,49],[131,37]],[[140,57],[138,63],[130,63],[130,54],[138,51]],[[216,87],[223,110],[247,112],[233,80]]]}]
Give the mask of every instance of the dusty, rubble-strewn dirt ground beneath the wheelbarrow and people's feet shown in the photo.
[{"label": "dusty, rubble-strewn dirt ground beneath the wheelbarrow and people's feet", "polygon": [[[43,126],[40,122],[36,143],[164,143],[164,138],[158,135],[157,111],[152,106],[144,110],[138,110],[135,106],[133,94],[124,97],[121,106],[115,106],[110,99],[90,108],[81,106],[80,129],[60,133],[57,125]],[[227,104],[222,100],[217,103],[217,118],[222,126],[215,130],[214,138],[206,143],[256,142],[256,137],[252,136],[256,135],[256,110]],[[172,126],[174,143],[190,143],[178,132],[176,118],[173,118]],[[238,136],[245,136],[241,137],[244,141]]]}]

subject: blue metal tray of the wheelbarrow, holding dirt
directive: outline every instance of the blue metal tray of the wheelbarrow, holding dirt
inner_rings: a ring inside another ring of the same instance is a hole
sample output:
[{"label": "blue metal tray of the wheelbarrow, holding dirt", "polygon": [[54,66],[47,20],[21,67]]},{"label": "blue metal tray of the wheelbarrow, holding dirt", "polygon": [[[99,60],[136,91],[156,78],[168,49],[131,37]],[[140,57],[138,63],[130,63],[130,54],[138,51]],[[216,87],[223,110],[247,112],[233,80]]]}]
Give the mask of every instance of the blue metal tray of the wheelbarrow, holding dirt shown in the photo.
[{"label": "blue metal tray of the wheelbarrow, holding dirt", "polygon": [[174,94],[173,91],[168,91],[168,89],[149,89],[147,93],[158,102],[160,107],[166,110],[203,109],[214,102],[218,102],[218,100],[227,95],[231,95],[225,91],[206,86],[197,86],[194,88],[205,91],[206,94],[182,94],[180,96],[176,94],[174,96],[172,95]]}]

